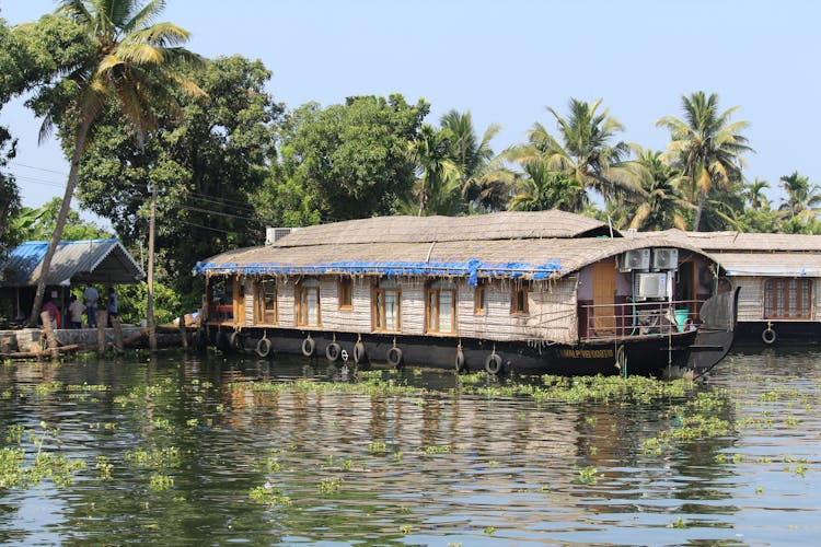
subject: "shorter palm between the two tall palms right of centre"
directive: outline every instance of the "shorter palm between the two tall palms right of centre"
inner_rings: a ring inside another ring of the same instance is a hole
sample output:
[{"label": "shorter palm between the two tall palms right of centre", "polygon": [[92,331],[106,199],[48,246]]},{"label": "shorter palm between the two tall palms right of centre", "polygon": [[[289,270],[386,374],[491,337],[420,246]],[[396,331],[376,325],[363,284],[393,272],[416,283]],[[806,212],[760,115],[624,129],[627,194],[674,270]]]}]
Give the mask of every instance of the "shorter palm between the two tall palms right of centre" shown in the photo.
[{"label": "shorter palm between the two tall palms right of centre", "polygon": [[[637,159],[626,168],[647,193],[646,198],[626,199],[620,209],[629,219],[629,228],[637,230],[686,230],[686,210],[690,203],[681,197],[681,173],[661,160],[661,152],[636,149]],[[632,216],[631,216],[632,211]]]}]

